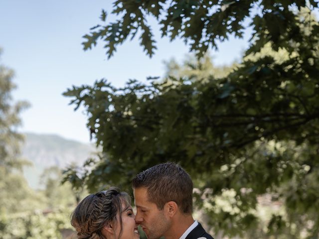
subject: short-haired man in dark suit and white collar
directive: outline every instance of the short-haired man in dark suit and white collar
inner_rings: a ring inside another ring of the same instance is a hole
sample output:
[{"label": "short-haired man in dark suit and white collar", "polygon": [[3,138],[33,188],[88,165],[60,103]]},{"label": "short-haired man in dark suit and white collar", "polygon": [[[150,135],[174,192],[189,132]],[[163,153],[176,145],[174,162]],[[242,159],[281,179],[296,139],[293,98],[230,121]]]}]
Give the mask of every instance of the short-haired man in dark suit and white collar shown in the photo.
[{"label": "short-haired man in dark suit and white collar", "polygon": [[148,239],[213,239],[192,217],[193,183],[178,164],[155,165],[133,179],[135,221]]}]

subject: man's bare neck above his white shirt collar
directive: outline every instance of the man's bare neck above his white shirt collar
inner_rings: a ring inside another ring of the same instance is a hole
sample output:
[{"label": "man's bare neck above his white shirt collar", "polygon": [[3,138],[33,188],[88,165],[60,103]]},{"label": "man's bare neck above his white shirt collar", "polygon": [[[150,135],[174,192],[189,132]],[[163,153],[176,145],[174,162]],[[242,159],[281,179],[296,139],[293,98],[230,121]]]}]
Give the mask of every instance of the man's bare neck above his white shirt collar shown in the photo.
[{"label": "man's bare neck above his white shirt collar", "polygon": [[170,229],[164,235],[165,239],[179,239],[193,223],[194,219],[191,214],[178,215],[178,217],[174,218]]}]

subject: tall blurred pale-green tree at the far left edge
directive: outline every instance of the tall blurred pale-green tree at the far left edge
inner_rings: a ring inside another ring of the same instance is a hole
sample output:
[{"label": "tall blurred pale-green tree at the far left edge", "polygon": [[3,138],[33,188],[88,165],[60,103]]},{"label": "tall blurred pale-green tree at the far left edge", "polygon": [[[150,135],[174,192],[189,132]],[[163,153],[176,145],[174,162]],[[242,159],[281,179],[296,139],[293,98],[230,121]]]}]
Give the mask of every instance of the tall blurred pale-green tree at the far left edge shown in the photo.
[{"label": "tall blurred pale-green tree at the far left edge", "polygon": [[[1,49],[0,49],[1,51]],[[1,52],[0,52],[1,53]],[[31,207],[30,201],[36,195],[29,192],[23,176],[22,166],[26,160],[19,158],[22,135],[17,132],[20,124],[18,114],[27,107],[26,102],[12,103],[11,91],[15,88],[12,83],[13,71],[0,65],[0,212],[11,213]],[[9,190],[10,189],[10,190]],[[14,200],[11,200],[13,199]],[[16,200],[19,201],[17,204]]]}]

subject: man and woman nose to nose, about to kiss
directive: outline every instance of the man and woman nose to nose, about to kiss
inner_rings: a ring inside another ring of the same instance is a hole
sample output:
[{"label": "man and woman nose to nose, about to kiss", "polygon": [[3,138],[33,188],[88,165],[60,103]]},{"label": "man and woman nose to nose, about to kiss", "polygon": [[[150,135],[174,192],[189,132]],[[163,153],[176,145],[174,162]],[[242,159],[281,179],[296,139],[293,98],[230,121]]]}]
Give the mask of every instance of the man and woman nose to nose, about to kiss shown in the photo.
[{"label": "man and woman nose to nose, about to kiss", "polygon": [[131,198],[116,187],[90,194],[74,209],[71,225],[77,239],[213,239],[192,216],[193,183],[178,164],[167,162],[133,179]]}]

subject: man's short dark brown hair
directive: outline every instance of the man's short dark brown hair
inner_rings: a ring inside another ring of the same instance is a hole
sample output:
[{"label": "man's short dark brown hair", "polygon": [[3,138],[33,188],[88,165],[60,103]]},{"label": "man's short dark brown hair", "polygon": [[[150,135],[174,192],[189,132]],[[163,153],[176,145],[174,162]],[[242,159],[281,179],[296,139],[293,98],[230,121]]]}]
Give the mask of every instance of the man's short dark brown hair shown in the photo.
[{"label": "man's short dark brown hair", "polygon": [[174,201],[183,213],[192,213],[193,183],[189,174],[178,164],[155,165],[136,175],[133,188],[147,188],[148,200],[160,210]]}]

